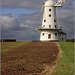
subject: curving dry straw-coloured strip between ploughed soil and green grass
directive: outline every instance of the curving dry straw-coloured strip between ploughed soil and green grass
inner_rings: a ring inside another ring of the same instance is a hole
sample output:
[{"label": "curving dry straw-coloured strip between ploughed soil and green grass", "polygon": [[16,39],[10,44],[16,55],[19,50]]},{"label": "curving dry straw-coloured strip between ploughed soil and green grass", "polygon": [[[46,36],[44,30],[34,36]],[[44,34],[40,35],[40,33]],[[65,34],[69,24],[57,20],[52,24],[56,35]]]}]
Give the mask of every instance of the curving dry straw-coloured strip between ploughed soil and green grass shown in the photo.
[{"label": "curving dry straw-coloured strip between ploughed soil and green grass", "polygon": [[45,71],[43,72],[43,75],[54,75],[54,70],[55,70],[56,66],[58,65],[57,62],[61,58],[62,50],[60,48],[60,45],[57,42],[54,42],[54,44],[57,45],[58,50],[59,50],[59,53],[57,55],[57,60],[52,62],[52,63],[54,63],[54,65],[47,65],[47,64],[45,64],[46,68],[45,68]]}]

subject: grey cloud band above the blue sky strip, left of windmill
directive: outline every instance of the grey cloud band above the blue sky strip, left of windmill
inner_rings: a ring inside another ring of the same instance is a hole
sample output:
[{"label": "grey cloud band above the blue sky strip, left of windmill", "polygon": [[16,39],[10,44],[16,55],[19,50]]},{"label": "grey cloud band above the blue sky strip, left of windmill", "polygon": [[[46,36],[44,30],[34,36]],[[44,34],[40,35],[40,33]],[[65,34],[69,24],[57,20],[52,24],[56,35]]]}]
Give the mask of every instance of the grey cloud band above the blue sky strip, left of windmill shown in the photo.
[{"label": "grey cloud band above the blue sky strip, left of windmill", "polygon": [[41,0],[1,0],[2,8],[39,9]]}]

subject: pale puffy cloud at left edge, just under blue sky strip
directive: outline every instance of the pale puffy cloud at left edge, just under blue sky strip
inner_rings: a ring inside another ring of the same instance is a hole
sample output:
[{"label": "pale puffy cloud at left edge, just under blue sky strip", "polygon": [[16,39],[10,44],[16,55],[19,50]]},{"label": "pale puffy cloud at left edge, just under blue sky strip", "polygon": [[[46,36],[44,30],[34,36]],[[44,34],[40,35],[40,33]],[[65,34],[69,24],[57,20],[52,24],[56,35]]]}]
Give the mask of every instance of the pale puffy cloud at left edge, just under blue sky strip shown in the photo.
[{"label": "pale puffy cloud at left edge, just under blue sky strip", "polygon": [[16,27],[16,19],[13,16],[1,16],[1,27],[4,29],[13,29]]}]

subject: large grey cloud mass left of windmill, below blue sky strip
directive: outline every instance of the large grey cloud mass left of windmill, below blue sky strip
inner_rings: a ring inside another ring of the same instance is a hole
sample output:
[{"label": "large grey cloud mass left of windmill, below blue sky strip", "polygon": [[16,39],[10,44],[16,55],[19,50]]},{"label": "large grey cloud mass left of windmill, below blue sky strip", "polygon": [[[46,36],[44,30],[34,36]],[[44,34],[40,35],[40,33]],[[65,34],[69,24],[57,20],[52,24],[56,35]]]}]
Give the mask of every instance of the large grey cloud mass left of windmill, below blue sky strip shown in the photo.
[{"label": "large grey cloud mass left of windmill, below blue sky strip", "polygon": [[[23,17],[22,17],[23,16]],[[26,17],[29,17],[26,19]],[[32,17],[32,20],[31,18]],[[1,16],[1,36],[2,38],[16,38],[17,40],[39,40],[39,32],[35,28],[40,26],[36,14],[20,15],[15,18],[11,15]]]}]

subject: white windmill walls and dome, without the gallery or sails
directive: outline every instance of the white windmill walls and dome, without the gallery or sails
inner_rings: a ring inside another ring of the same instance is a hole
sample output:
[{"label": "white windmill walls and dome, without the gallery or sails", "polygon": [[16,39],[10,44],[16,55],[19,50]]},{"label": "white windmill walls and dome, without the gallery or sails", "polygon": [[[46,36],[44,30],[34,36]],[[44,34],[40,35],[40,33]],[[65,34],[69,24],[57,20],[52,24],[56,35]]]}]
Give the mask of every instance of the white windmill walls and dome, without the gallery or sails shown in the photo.
[{"label": "white windmill walls and dome, without the gallery or sails", "polygon": [[[42,30],[40,33],[40,41],[59,40],[58,30],[55,30],[58,29],[58,26],[56,19],[56,7],[54,5],[55,2],[52,0],[48,0],[44,4],[42,28],[48,28],[51,30]],[[57,36],[55,36],[55,34],[57,34]]]}]

